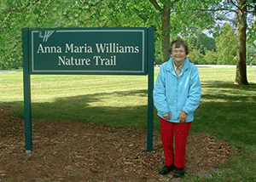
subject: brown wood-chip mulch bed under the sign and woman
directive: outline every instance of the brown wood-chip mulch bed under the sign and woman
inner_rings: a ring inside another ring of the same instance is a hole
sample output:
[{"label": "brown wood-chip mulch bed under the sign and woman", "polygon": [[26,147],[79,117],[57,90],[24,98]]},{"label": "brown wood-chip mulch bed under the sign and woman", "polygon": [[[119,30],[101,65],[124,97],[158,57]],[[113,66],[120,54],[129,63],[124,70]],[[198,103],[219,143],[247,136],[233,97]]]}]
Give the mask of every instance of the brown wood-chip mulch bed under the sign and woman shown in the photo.
[{"label": "brown wood-chip mulch bed under the sign and woman", "polygon": [[[33,151],[25,153],[22,118],[0,105],[0,181],[159,181],[164,165],[160,132],[147,152],[147,129],[90,122],[32,121]],[[189,134],[186,171],[228,162],[231,147],[210,134]],[[170,174],[170,177],[172,174]]]}]

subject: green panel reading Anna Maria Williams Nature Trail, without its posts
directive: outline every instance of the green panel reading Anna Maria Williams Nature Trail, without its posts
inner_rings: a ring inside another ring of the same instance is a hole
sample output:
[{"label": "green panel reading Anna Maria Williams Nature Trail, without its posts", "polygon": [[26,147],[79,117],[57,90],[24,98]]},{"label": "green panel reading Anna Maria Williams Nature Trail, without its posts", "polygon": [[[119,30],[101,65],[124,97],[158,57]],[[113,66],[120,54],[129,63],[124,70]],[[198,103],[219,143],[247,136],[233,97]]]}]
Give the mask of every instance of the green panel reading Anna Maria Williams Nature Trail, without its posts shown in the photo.
[{"label": "green panel reading Anna Maria Williams Nature Trail, without its posts", "polygon": [[148,28],[30,29],[31,74],[147,74]]}]

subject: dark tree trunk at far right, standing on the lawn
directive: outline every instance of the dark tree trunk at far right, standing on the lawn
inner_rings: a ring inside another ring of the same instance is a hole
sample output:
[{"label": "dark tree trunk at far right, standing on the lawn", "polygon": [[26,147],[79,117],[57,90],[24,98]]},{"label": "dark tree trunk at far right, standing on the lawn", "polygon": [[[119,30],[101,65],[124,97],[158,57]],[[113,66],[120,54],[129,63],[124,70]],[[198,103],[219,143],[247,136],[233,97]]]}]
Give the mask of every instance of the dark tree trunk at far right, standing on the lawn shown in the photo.
[{"label": "dark tree trunk at far right, standing on the lawn", "polygon": [[237,65],[236,80],[239,85],[248,85],[247,82],[247,0],[237,0],[238,22],[236,27],[237,34]]}]

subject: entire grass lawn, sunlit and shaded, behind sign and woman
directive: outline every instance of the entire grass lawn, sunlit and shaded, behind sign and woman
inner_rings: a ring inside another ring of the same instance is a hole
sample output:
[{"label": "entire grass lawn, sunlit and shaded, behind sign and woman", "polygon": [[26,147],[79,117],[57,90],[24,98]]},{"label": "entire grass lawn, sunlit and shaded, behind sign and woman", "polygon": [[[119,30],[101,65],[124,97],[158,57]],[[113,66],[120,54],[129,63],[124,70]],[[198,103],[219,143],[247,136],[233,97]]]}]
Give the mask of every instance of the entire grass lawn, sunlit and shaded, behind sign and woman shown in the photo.
[{"label": "entire grass lawn, sunlit and shaded, behind sign and woman", "polygon": [[[184,181],[256,181],[256,85],[234,84],[236,68],[199,68],[202,99],[191,132],[214,134],[241,152],[212,171],[212,178],[188,173]],[[155,69],[155,79],[158,69]],[[247,68],[256,83],[256,68]],[[148,77],[32,75],[32,117],[39,120],[100,122],[147,127]],[[23,117],[22,72],[0,73],[0,105]],[[160,129],[154,112],[154,128]]]}]

